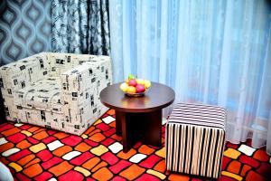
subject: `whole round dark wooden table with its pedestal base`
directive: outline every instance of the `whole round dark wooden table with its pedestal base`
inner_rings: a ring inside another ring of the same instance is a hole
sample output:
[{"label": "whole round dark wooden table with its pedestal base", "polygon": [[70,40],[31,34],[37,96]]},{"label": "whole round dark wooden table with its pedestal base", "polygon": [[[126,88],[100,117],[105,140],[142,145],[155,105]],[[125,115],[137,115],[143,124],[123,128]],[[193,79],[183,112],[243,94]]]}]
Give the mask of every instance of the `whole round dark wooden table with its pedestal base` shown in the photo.
[{"label": "whole round dark wooden table with its pedestal base", "polygon": [[121,83],[101,90],[100,101],[116,110],[117,135],[123,138],[124,152],[136,141],[160,147],[162,145],[162,109],[175,99],[174,90],[152,82],[143,97],[128,97],[119,89]]}]

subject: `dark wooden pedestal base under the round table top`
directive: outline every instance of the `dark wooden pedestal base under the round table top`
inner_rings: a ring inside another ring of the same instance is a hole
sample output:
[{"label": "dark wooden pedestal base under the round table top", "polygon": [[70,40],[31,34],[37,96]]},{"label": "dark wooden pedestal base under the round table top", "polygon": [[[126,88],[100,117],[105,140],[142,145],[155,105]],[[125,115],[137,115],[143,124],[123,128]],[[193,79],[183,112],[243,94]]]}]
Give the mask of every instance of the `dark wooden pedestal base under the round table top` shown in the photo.
[{"label": "dark wooden pedestal base under the round table top", "polygon": [[152,112],[116,111],[117,136],[123,138],[126,153],[137,141],[155,147],[162,146],[162,110]]}]

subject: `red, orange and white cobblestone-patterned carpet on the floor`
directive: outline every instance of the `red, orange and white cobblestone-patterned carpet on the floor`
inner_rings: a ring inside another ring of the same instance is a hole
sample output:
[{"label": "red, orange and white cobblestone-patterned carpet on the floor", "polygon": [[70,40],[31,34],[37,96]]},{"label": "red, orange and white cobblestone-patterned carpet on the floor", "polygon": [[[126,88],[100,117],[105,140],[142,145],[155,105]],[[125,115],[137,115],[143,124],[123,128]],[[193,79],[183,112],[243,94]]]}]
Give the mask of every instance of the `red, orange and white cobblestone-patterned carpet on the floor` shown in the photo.
[{"label": "red, orange and white cobblestone-patterned carpet on the floor", "polygon": [[[0,126],[0,160],[15,180],[201,180],[167,172],[164,148],[137,143],[125,154],[115,124],[114,110],[107,111],[80,137],[5,123]],[[249,146],[249,141],[227,143],[220,181],[271,180],[270,157],[264,149]]]}]

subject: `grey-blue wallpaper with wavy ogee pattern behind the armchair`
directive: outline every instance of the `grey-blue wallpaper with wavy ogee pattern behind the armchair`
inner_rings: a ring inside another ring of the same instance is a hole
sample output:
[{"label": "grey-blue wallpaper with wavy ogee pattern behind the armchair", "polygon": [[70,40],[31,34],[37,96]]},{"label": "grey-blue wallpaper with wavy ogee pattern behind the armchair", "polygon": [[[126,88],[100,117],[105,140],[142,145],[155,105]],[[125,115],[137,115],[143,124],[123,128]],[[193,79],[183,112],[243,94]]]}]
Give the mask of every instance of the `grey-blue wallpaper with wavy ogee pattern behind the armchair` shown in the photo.
[{"label": "grey-blue wallpaper with wavy ogee pattern behind the armchair", "polygon": [[0,0],[0,65],[51,51],[50,0]]}]

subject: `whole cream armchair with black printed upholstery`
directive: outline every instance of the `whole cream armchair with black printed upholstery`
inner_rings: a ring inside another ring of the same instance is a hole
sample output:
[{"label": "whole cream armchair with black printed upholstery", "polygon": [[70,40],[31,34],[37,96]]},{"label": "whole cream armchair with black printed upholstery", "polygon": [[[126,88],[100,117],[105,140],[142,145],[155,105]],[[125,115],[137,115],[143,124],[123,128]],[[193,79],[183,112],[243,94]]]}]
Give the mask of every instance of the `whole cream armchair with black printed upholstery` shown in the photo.
[{"label": "whole cream armchair with black printed upholstery", "polygon": [[42,52],[0,68],[6,119],[76,135],[107,111],[99,92],[111,83],[107,56]]}]

